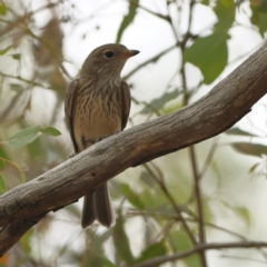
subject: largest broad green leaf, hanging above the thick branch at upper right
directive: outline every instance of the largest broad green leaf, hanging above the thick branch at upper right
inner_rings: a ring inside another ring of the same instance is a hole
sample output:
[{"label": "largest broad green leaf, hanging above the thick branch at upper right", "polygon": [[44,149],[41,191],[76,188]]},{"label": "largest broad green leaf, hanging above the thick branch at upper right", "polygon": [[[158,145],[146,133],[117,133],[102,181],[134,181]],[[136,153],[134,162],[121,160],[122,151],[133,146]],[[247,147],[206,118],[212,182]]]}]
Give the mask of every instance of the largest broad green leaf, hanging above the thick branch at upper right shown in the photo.
[{"label": "largest broad green leaf, hanging above the thick branch at upper right", "polygon": [[204,76],[204,82],[211,83],[225,69],[228,60],[227,33],[215,32],[196,39],[185,50],[184,61],[198,67]]}]

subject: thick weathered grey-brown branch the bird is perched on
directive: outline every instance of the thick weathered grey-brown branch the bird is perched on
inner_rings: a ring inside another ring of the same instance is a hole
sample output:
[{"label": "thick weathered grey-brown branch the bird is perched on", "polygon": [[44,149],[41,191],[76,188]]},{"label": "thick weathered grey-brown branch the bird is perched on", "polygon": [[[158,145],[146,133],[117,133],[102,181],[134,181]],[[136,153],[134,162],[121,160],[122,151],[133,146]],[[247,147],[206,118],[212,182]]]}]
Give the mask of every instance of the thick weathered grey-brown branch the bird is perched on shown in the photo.
[{"label": "thick weathered grey-brown branch the bird is perched on", "polygon": [[0,197],[0,255],[13,245],[11,237],[19,239],[27,224],[30,227],[125,169],[225,131],[267,92],[266,85],[267,44],[192,105],[109,137],[12,188]]}]

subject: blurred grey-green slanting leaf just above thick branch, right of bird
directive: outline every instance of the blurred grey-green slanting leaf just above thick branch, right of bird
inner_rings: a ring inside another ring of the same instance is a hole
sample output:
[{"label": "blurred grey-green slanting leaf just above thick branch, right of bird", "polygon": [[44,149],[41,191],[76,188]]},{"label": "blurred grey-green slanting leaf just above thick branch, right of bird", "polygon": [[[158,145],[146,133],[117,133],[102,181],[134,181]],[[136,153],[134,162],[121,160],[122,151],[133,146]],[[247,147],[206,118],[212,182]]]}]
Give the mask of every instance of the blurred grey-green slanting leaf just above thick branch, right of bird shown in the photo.
[{"label": "blurred grey-green slanting leaf just above thick branch, right of bird", "polygon": [[158,112],[167,102],[176,99],[178,96],[178,90],[174,90],[171,92],[167,91],[161,97],[155,98],[150,103],[147,103],[140,113]]}]

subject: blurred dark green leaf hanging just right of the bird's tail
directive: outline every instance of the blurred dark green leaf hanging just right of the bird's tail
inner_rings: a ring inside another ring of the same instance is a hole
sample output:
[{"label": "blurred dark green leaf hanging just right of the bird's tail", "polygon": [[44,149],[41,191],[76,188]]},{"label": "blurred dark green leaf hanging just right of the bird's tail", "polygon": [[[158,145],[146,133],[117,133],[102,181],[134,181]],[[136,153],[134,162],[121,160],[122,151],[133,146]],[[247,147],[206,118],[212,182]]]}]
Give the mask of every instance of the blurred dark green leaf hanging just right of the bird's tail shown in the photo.
[{"label": "blurred dark green leaf hanging just right of the bird's tail", "polygon": [[113,244],[120,258],[122,258],[128,265],[134,264],[135,258],[130,250],[129,238],[126,235],[123,219],[120,212],[113,227]]}]

